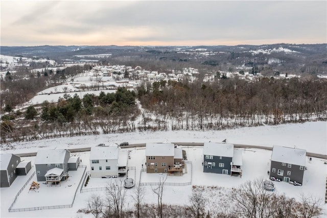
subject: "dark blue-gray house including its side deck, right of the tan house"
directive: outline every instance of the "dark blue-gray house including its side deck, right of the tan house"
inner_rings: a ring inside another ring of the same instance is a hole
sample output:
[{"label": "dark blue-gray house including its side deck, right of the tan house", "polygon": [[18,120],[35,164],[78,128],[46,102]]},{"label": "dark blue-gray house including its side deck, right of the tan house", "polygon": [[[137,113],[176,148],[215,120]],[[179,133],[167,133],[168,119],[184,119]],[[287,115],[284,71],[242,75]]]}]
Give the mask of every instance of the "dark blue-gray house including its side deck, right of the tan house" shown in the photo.
[{"label": "dark blue-gray house including its side deck, right of the tan house", "polygon": [[242,176],[242,151],[233,144],[205,142],[203,145],[203,172]]}]

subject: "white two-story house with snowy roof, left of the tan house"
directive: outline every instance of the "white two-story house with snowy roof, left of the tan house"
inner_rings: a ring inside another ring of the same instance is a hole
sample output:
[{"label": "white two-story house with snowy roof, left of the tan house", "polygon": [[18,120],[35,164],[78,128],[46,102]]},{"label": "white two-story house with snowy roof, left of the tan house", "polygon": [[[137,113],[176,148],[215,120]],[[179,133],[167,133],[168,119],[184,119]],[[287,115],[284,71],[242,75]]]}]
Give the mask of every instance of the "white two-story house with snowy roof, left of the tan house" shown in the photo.
[{"label": "white two-story house with snowy roof, left of the tan house", "polygon": [[91,177],[119,176],[127,173],[127,150],[119,146],[96,146],[90,151]]}]

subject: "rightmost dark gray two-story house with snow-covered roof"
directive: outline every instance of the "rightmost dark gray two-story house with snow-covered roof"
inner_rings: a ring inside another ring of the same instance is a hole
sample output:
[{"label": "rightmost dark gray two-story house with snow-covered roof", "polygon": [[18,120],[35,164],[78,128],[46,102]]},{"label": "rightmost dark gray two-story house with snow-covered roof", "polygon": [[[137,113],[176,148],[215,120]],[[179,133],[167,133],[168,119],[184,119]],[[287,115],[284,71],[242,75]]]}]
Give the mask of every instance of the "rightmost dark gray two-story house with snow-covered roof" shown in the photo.
[{"label": "rightmost dark gray two-story house with snow-covered roof", "polygon": [[274,145],[271,154],[270,176],[284,182],[303,182],[307,151]]}]

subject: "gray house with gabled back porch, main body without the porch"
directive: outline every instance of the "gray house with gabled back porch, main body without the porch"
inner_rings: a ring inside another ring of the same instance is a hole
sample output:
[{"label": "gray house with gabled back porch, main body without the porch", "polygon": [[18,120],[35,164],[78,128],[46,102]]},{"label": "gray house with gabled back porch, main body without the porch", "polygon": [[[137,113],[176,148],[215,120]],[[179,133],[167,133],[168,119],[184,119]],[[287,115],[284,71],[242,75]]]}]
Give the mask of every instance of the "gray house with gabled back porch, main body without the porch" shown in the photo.
[{"label": "gray house with gabled back porch, main body without the porch", "polygon": [[[39,150],[35,158],[37,181],[46,181],[46,173],[53,169],[63,169],[63,175],[68,172],[68,160],[71,152],[66,149]],[[60,175],[59,175],[60,176]],[[64,179],[62,177],[61,179]]]}]

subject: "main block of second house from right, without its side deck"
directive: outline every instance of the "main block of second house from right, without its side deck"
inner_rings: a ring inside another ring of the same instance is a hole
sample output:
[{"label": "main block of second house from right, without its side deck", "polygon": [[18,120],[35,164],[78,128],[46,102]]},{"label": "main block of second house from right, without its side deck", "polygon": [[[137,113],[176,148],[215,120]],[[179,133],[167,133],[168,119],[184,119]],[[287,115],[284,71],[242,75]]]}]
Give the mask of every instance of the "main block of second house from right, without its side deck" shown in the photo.
[{"label": "main block of second house from right, without its side deck", "polygon": [[234,145],[205,142],[203,145],[203,172],[231,175]]}]

